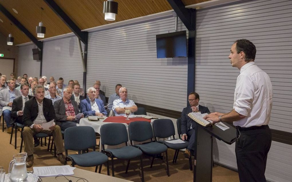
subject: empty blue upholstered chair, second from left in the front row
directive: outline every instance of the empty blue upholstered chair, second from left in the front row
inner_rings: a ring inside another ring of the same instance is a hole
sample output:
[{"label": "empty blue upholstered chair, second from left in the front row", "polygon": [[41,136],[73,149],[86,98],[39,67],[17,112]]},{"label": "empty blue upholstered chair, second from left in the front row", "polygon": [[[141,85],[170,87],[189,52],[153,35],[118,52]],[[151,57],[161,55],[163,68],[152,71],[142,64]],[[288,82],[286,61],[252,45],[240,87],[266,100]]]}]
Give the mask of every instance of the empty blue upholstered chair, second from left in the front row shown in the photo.
[{"label": "empty blue upholstered chair, second from left in the front row", "polygon": [[[142,164],[142,151],[133,146],[128,146],[128,132],[127,128],[122,123],[109,123],[102,125],[100,128],[102,151],[112,159],[112,176],[114,176],[114,158],[128,159],[126,174],[128,172],[130,160],[132,158],[140,157],[141,175],[144,182],[144,172]],[[116,149],[105,149],[105,145],[119,145],[125,143],[124,147]]]}]

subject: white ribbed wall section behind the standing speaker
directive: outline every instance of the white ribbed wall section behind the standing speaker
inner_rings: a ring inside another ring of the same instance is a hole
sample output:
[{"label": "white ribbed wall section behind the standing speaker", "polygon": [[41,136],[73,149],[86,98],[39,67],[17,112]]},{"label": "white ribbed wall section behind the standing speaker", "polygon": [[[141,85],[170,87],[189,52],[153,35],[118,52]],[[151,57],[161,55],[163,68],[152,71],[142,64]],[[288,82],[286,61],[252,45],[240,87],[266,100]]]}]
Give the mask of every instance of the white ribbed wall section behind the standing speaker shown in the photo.
[{"label": "white ribbed wall section behind the standing speaker", "polygon": [[[211,112],[229,112],[239,70],[228,56],[233,42],[251,40],[256,64],[271,78],[273,107],[269,126],[292,132],[292,1],[240,1],[197,11],[195,91]],[[234,147],[213,140],[214,160],[237,168]],[[267,159],[269,181],[292,181],[292,147],[272,142]]]}]

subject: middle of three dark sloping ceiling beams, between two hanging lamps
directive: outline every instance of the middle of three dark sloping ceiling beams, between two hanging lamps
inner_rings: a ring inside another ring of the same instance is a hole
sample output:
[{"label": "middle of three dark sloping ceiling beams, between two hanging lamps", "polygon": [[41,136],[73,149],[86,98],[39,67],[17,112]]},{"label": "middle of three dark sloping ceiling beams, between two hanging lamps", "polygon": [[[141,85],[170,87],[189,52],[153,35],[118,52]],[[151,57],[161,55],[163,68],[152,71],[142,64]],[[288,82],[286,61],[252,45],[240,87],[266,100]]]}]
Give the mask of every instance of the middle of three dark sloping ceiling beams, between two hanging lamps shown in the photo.
[{"label": "middle of three dark sloping ceiling beams, between two hanging lamps", "polygon": [[88,42],[88,32],[81,31],[71,18],[53,0],[44,0],[48,6],[60,17],[60,19],[71,29],[71,31],[84,43]]}]

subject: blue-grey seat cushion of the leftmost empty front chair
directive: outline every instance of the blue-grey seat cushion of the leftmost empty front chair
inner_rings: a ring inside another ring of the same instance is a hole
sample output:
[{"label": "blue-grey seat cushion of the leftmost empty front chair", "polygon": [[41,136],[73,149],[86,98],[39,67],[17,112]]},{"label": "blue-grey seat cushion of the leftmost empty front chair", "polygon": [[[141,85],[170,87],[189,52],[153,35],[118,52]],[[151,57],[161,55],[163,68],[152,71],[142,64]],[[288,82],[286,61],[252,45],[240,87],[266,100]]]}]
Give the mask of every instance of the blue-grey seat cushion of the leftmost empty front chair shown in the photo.
[{"label": "blue-grey seat cushion of the leftmost empty front chair", "polygon": [[68,157],[71,157],[77,165],[82,167],[101,165],[108,160],[107,155],[98,151],[83,154],[71,154],[68,155]]}]

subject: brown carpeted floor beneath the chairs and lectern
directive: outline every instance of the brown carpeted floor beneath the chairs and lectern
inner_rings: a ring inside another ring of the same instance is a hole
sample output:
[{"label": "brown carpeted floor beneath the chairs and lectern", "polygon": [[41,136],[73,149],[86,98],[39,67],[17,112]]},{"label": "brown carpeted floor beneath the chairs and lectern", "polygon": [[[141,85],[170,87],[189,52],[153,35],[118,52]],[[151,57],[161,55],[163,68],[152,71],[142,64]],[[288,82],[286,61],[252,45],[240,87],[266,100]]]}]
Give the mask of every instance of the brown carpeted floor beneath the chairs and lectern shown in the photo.
[{"label": "brown carpeted floor beneath the chairs and lectern", "polygon": [[[18,132],[17,137],[17,149],[14,149],[14,135],[12,144],[9,144],[10,134],[4,130],[2,132],[2,123],[0,127],[0,166],[3,166],[6,169],[6,173],[8,171],[9,162],[12,160],[12,156],[14,154],[19,153],[20,149],[20,132]],[[23,148],[24,150],[24,148]],[[97,150],[99,148],[97,147]],[[60,162],[54,158],[53,153],[47,151],[46,146],[38,146],[34,148],[34,165],[33,166],[51,166],[51,165],[61,165]],[[70,151],[69,153],[74,153]],[[63,153],[65,155],[65,153]],[[143,166],[144,166],[144,177],[145,181],[193,181],[193,173],[189,169],[188,160],[183,157],[183,154],[180,153],[178,155],[178,160],[176,164],[172,163],[172,158],[174,155],[174,151],[169,149],[168,150],[168,160],[169,160],[169,171],[170,177],[166,175],[166,163],[163,160],[155,159],[153,167],[150,168],[151,160],[147,156],[143,158]],[[69,165],[71,162],[68,162]],[[115,160],[115,177],[127,179],[130,181],[141,181],[140,175],[140,160],[133,160],[130,163],[130,167],[128,170],[128,174],[125,174],[127,161],[125,160]],[[109,163],[111,165],[111,163]],[[95,167],[79,167],[81,169],[85,169],[88,171],[94,172]],[[28,171],[32,171],[31,168],[27,168]],[[106,167],[102,167],[102,174],[107,174]],[[111,170],[110,170],[111,174]],[[112,174],[111,174],[112,175]],[[239,181],[237,172],[229,170],[227,168],[215,165],[213,167],[213,177],[214,182],[235,182]]]}]

